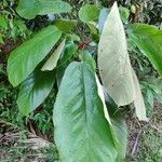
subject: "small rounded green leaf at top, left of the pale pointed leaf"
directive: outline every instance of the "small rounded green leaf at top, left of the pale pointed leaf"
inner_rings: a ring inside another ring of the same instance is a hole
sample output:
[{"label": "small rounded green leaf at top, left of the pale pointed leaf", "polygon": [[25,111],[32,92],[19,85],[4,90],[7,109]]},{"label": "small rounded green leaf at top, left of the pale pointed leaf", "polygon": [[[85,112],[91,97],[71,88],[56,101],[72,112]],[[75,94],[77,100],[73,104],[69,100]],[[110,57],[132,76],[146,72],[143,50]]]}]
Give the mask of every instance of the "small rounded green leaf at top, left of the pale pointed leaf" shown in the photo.
[{"label": "small rounded green leaf at top, left of the pale pointed leaf", "polygon": [[95,4],[85,4],[79,11],[79,18],[84,23],[95,22],[98,16],[99,9]]}]

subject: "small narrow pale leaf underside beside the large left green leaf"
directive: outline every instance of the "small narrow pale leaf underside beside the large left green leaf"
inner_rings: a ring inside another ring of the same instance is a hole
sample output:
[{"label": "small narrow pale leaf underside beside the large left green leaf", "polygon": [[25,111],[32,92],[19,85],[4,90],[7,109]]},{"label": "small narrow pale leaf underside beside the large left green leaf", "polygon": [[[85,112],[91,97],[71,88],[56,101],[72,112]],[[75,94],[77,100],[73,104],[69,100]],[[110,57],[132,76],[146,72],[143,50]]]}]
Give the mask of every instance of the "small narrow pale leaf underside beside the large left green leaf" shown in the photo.
[{"label": "small narrow pale leaf underside beside the large left green leaf", "polygon": [[51,57],[45,62],[43,67],[41,68],[42,71],[45,70],[53,70],[57,66],[57,62],[59,59],[59,56],[65,48],[65,39],[62,41],[62,43],[57,46],[57,49],[54,51],[54,53],[51,55]]}]

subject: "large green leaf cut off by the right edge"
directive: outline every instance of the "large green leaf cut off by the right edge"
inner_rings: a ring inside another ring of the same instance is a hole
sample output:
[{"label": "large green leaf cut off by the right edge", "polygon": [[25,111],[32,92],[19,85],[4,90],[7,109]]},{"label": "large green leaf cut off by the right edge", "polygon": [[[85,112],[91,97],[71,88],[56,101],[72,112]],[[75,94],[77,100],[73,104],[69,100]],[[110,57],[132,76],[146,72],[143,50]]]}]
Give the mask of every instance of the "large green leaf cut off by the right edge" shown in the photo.
[{"label": "large green leaf cut off by the right edge", "polygon": [[162,30],[145,24],[134,24],[130,37],[162,76]]}]

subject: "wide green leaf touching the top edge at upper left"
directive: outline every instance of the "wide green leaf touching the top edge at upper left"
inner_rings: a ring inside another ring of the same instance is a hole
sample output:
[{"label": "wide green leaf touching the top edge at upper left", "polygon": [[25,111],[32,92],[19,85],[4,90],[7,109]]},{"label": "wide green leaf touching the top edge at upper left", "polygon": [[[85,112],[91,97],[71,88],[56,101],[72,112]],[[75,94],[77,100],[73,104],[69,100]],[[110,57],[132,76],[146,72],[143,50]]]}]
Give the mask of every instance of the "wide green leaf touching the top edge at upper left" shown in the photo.
[{"label": "wide green leaf touching the top edge at upper left", "polygon": [[66,13],[70,12],[70,5],[60,0],[19,0],[17,6],[17,13],[26,19],[32,19],[37,15],[50,13]]}]

